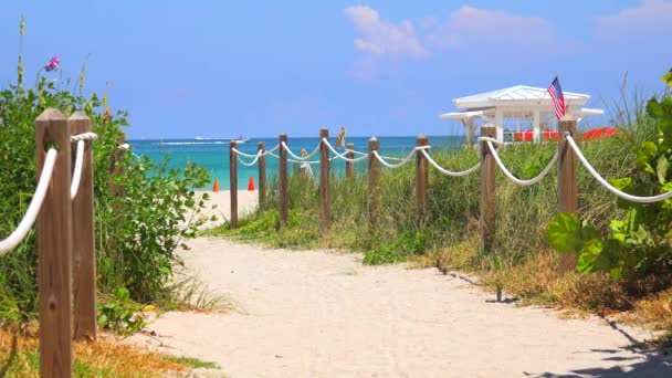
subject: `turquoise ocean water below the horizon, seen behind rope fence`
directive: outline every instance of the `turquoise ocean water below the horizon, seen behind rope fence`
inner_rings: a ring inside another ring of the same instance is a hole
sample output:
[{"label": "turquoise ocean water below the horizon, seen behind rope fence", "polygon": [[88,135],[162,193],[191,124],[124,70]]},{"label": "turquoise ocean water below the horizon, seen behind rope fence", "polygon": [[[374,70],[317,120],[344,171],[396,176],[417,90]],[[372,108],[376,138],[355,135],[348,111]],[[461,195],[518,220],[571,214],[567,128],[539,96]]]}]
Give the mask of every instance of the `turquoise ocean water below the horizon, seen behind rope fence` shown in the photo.
[{"label": "turquoise ocean water below the horizon, seen behind rope fence", "polygon": [[[346,143],[354,143],[355,149],[366,153],[368,149],[368,137],[348,137]],[[153,161],[162,161],[169,157],[169,168],[183,168],[188,162],[196,162],[203,167],[210,174],[210,182],[206,188],[212,188],[216,178],[219,178],[220,189],[229,189],[229,140],[230,139],[136,139],[128,143],[133,147],[133,153],[138,156],[147,156]],[[380,155],[405,157],[416,145],[416,137],[378,137],[380,141]],[[464,143],[463,136],[433,136],[429,137],[432,151],[459,148]],[[277,138],[252,138],[246,143],[239,144],[238,149],[246,154],[256,154],[258,143],[264,141],[266,149],[277,145]],[[335,145],[336,139],[330,138],[332,145]],[[290,138],[287,145],[300,155],[305,148],[308,153],[312,151],[318,143],[318,138]],[[340,148],[340,151],[344,149]],[[277,153],[277,151],[276,151]],[[250,161],[250,158],[244,158]],[[311,160],[319,159],[315,155]],[[290,170],[297,167],[297,164],[290,164]],[[319,166],[313,166],[313,172],[317,176]],[[364,172],[367,167],[366,160],[355,164],[355,169],[358,172]],[[266,157],[266,175],[271,180],[277,176],[279,162],[277,159]],[[335,175],[345,175],[345,161],[335,160],[332,165],[332,171]],[[258,166],[245,167],[242,164],[238,165],[238,189],[244,190],[248,188],[250,177],[254,178],[254,182],[259,182]]]}]

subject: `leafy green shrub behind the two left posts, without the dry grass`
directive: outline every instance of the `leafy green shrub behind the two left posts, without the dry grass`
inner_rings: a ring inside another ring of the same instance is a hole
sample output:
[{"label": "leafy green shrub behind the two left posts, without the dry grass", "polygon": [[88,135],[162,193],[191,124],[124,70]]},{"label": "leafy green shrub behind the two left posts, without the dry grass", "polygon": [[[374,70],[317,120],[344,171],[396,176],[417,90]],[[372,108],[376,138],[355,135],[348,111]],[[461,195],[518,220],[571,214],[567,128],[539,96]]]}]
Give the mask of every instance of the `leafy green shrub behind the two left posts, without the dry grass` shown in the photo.
[{"label": "leafy green shrub behind the two left posts, without the dry grass", "polygon": [[[35,189],[35,118],[49,107],[66,115],[83,111],[98,135],[93,148],[98,288],[111,294],[126,287],[129,298],[138,302],[165,300],[170,296],[166,283],[177,262],[175,251],[200,224],[197,213],[203,203],[195,202],[191,188],[208,182],[207,172],[197,166],[168,170],[166,164],[157,167],[127,151],[118,162],[124,172],[114,178],[125,187],[125,196],[113,196],[112,156],[119,154],[127,114],[113,114],[106,95],[84,96],[84,74],[78,94],[40,77],[34,88],[25,88],[20,65],[18,83],[0,88],[0,238],[15,229]],[[36,259],[34,231],[0,258],[0,319],[36,312]]]}]

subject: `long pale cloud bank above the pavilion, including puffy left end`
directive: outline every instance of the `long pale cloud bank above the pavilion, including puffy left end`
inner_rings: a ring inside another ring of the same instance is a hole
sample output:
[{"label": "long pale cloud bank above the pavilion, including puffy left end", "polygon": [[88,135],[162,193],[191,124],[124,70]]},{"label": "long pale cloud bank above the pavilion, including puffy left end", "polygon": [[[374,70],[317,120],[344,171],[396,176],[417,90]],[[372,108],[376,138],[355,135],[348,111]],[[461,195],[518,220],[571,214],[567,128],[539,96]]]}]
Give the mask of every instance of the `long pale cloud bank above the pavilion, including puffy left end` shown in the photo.
[{"label": "long pale cloud bank above the pavilion, including puffy left end", "polygon": [[534,57],[578,49],[578,44],[563,38],[548,20],[502,10],[462,7],[447,19],[419,20],[418,30],[411,21],[387,22],[370,7],[349,7],[345,13],[360,34],[354,42],[355,48],[372,55],[422,57],[469,50],[474,54],[496,52]]}]

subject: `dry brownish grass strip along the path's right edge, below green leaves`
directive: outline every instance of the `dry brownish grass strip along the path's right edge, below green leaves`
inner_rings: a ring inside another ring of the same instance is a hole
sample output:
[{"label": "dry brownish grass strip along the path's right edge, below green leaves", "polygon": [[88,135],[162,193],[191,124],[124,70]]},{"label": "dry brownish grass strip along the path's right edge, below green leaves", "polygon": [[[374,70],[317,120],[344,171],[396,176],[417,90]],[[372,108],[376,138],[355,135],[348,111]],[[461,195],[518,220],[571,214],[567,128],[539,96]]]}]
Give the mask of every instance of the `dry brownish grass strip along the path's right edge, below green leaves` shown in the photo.
[{"label": "dry brownish grass strip along the path's right edge, below green leaves", "polygon": [[554,306],[565,315],[615,316],[622,322],[652,329],[672,329],[672,288],[669,277],[649,277],[631,283],[616,282],[607,274],[557,274],[558,254],[542,250],[524,261],[501,263],[496,256],[479,254],[477,238],[419,256],[419,266],[441,271],[460,270],[479,276],[486,291],[501,288],[522,304]]}]

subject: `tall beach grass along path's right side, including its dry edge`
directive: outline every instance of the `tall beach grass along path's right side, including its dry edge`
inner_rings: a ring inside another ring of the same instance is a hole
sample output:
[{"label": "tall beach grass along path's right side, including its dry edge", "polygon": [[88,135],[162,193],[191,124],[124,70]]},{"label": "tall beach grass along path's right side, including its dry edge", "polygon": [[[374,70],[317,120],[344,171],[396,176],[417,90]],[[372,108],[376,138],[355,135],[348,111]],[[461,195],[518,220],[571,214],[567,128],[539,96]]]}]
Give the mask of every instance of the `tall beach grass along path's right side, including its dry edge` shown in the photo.
[{"label": "tall beach grass along path's right side, including its dry edge", "polygon": [[[636,98],[637,99],[637,98]],[[623,97],[623,102],[626,98]],[[612,138],[580,141],[580,148],[607,179],[634,171],[633,148],[653,136],[642,102],[620,107]],[[632,114],[629,114],[632,113]],[[519,144],[500,149],[504,164],[521,178],[536,176],[550,160],[555,143]],[[479,161],[473,149],[432,150],[432,157],[451,170]],[[609,221],[621,217],[617,199],[578,167],[578,208],[581,219],[607,232]],[[239,221],[208,231],[239,241],[262,242],[272,248],[338,249],[364,253],[364,263],[410,261],[416,266],[472,273],[485,290],[504,291],[524,304],[552,305],[601,316],[628,313],[629,318],[670,329],[669,276],[633,282],[613,281],[603,274],[568,274],[558,277],[557,252],[545,230],[557,212],[557,179],[549,175],[531,187],[496,177],[494,249],[479,253],[480,175],[462,178],[440,175],[430,167],[429,211],[416,211],[414,165],[399,169],[381,167],[378,222],[368,227],[367,177],[330,177],[332,229],[319,232],[319,189],[316,180],[290,178],[290,219],[279,229],[277,181],[270,183],[267,208]],[[632,315],[634,314],[634,315]]]}]

